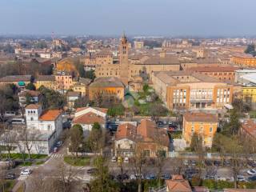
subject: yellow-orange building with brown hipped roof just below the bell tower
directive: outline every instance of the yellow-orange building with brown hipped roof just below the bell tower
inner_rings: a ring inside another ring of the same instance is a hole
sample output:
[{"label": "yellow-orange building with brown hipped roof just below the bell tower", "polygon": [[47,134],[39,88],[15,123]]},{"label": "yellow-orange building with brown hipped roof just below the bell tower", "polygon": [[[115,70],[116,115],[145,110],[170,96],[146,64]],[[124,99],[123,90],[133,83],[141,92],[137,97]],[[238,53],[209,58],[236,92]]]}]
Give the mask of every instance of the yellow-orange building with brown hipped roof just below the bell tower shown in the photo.
[{"label": "yellow-orange building with brown hipped roof just below the bell tower", "polygon": [[102,94],[103,97],[123,99],[125,86],[119,78],[96,78],[89,86],[89,98],[93,100]]}]

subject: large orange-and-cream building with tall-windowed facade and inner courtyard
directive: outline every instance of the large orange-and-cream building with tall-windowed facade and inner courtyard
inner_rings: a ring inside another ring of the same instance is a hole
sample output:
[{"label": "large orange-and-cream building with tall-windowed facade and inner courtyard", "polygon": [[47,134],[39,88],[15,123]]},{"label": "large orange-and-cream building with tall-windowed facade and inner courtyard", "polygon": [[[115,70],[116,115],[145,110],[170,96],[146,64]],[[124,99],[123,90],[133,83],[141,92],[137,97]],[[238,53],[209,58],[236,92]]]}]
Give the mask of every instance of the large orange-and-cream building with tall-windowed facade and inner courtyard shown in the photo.
[{"label": "large orange-and-cream building with tall-windowed facade and inner courtyard", "polygon": [[159,71],[153,87],[170,110],[217,110],[232,103],[234,86],[193,71]]}]

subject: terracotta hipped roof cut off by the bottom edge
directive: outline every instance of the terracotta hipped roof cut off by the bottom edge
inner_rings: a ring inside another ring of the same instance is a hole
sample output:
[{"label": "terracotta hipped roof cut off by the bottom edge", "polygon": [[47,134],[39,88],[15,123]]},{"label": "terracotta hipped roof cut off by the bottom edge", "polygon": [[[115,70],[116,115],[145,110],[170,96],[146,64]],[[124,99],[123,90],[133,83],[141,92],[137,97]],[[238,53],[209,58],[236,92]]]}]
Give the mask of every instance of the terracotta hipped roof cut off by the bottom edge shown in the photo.
[{"label": "terracotta hipped roof cut off by the bottom edge", "polygon": [[166,186],[170,192],[192,192],[190,183],[184,179],[168,179],[166,180]]}]

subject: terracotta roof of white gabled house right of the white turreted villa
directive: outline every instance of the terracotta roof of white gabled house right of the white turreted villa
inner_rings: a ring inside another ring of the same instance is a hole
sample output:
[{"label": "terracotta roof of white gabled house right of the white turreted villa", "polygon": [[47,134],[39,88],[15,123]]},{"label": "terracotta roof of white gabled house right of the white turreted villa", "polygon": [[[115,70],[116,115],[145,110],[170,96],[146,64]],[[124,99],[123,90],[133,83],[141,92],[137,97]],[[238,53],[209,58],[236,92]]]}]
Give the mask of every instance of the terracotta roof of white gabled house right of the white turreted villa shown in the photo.
[{"label": "terracotta roof of white gabled house right of the white turreted villa", "polygon": [[105,122],[105,119],[102,118],[102,116],[98,116],[97,114],[94,114],[92,112],[83,114],[83,115],[78,116],[77,118],[73,119],[74,124],[91,125],[91,124],[94,124],[94,122],[98,122],[98,123],[102,124]]}]

